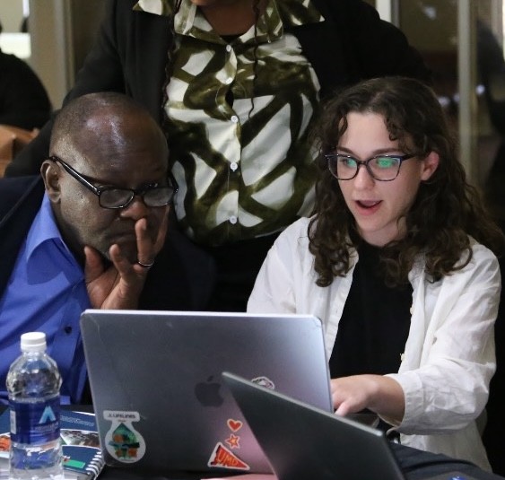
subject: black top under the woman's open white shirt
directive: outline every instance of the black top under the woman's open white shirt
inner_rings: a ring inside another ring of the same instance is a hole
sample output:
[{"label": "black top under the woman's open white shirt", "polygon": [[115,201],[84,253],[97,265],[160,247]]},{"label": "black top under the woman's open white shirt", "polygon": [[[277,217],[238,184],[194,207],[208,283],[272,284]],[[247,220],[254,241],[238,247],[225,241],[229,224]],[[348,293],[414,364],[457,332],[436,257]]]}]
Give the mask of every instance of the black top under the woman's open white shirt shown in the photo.
[{"label": "black top under the woman's open white shirt", "polygon": [[390,288],[379,274],[380,249],[358,248],[353,284],[330,358],[331,378],[396,373],[410,328],[412,286]]}]

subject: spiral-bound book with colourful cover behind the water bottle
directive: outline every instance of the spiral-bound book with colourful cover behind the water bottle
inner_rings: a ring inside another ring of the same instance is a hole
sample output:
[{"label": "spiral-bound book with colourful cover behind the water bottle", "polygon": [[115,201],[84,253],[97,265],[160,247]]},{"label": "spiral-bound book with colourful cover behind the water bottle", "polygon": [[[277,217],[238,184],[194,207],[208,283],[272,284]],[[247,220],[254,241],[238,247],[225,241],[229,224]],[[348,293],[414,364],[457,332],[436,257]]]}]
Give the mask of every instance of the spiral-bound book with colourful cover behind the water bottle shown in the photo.
[{"label": "spiral-bound book with colourful cover behind the water bottle", "polygon": [[[0,479],[9,478],[10,411],[0,415]],[[65,480],[93,480],[104,466],[95,415],[60,412],[60,436]]]}]

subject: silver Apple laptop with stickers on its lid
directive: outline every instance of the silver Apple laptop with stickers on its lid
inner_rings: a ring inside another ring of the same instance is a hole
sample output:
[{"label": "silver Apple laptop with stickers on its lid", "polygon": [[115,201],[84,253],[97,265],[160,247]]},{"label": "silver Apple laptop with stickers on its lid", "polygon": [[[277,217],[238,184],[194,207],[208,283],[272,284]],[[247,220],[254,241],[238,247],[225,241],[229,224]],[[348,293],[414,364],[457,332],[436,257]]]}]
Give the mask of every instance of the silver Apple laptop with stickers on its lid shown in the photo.
[{"label": "silver Apple laptop with stickers on its lid", "polygon": [[109,466],[271,472],[222,371],[332,411],[323,327],[310,315],[85,310],[81,330]]}]

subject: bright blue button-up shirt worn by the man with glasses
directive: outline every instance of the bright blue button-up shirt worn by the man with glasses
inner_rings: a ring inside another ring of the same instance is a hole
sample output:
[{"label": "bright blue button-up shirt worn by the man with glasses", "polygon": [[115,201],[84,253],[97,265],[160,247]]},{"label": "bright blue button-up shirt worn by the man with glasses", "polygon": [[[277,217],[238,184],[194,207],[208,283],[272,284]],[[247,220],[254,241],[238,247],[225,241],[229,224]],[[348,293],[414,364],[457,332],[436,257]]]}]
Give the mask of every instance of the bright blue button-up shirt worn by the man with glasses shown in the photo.
[{"label": "bright blue button-up shirt worn by the man with glasses", "polygon": [[63,403],[78,403],[86,378],[79,318],[89,308],[83,268],[66,247],[48,196],[44,196],[0,299],[0,402],[5,379],[21,354],[20,336],[46,333],[48,354],[57,362]]}]

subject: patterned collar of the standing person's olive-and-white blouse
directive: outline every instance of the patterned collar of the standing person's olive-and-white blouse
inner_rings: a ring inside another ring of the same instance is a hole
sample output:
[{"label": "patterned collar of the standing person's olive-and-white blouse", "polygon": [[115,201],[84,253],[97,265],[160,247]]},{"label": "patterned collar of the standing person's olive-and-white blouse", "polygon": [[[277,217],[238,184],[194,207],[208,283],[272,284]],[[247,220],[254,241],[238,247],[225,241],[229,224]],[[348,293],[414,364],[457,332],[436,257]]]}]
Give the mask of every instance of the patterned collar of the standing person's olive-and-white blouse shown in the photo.
[{"label": "patterned collar of the standing person's olive-and-white blouse", "polygon": [[[173,0],[139,0],[134,6],[135,11],[169,16],[173,12]],[[194,27],[202,28],[200,14],[196,5],[190,0],[182,0],[175,18],[175,31],[182,35],[190,35]],[[283,34],[283,28],[296,27],[308,23],[323,22],[325,19],[319,13],[311,0],[268,0],[266,11],[257,25],[257,36],[273,39]]]}]

